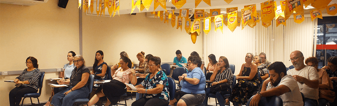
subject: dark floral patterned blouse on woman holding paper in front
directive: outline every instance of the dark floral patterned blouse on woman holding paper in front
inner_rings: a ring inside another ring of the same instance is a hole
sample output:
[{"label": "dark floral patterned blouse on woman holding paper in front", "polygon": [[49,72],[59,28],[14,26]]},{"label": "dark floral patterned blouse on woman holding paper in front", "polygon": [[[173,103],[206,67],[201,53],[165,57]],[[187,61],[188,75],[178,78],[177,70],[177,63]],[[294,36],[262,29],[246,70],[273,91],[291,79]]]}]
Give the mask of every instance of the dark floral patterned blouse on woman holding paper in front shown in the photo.
[{"label": "dark floral patterned blouse on woman holding paper in front", "polygon": [[160,70],[156,75],[154,75],[151,79],[149,78],[152,73],[148,74],[145,77],[145,80],[142,82],[142,86],[145,89],[156,88],[157,84],[164,85],[163,91],[160,94],[145,94],[146,98],[161,98],[167,101],[170,100],[170,96],[168,95],[168,80],[166,74]]}]

